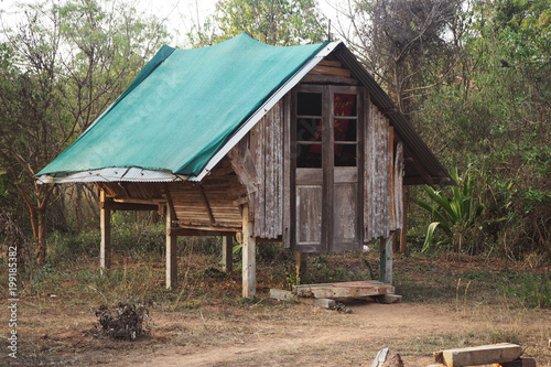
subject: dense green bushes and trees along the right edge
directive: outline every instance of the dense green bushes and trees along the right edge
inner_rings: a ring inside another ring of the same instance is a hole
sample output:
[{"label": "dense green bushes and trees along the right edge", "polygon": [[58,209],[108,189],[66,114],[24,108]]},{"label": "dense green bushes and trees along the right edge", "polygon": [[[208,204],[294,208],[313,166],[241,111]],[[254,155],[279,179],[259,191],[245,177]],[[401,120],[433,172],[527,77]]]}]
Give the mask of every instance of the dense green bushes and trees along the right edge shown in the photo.
[{"label": "dense green bushes and trees along the right edge", "polygon": [[466,9],[454,77],[415,99],[412,120],[445,166],[476,162],[476,196],[486,205],[476,252],[550,259],[551,6],[499,0]]}]

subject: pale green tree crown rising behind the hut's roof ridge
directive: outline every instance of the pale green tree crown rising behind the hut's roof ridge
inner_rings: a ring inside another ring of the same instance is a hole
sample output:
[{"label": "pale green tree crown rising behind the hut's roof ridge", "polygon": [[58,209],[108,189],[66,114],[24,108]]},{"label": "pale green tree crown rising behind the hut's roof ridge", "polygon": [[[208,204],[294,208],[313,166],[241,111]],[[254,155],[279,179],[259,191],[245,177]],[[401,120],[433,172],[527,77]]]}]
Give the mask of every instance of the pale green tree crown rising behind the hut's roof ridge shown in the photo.
[{"label": "pale green tree crown rising behind the hut's roof ridge", "polygon": [[313,0],[223,0],[187,36],[192,45],[205,46],[247,32],[266,44],[289,46],[323,42],[325,29]]}]

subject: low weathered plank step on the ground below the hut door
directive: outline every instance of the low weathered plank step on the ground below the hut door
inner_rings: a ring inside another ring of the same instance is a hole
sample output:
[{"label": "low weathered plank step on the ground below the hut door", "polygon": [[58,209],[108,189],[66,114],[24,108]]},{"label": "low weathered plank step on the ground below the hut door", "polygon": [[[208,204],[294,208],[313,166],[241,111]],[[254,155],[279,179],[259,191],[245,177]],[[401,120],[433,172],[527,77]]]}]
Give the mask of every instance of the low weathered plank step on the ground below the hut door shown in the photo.
[{"label": "low weathered plank step on the ground below the hut door", "polygon": [[293,294],[315,299],[360,299],[393,294],[395,288],[377,281],[293,285]]}]

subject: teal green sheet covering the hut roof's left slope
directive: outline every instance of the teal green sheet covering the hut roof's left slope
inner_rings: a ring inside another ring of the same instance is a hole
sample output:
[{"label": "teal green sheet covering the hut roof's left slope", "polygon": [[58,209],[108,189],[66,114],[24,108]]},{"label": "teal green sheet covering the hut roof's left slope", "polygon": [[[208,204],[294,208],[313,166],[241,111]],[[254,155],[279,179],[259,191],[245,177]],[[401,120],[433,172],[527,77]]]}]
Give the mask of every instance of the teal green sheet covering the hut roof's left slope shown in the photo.
[{"label": "teal green sheet covering the hut roof's left slope", "polygon": [[244,121],[326,44],[277,47],[244,33],[204,48],[165,45],[37,176],[109,168],[196,176]]}]

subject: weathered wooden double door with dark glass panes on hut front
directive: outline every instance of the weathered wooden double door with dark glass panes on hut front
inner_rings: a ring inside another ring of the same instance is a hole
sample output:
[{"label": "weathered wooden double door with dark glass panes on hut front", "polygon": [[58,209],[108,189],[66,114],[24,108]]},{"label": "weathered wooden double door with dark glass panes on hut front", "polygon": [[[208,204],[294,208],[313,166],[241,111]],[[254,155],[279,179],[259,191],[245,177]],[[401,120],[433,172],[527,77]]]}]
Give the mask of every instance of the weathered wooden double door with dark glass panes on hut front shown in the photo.
[{"label": "weathered wooden double door with dark glass panes on hut front", "polygon": [[301,86],[293,97],[293,250],[358,249],[363,245],[360,89]]}]

